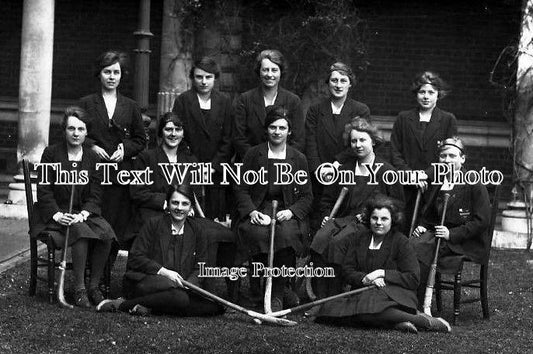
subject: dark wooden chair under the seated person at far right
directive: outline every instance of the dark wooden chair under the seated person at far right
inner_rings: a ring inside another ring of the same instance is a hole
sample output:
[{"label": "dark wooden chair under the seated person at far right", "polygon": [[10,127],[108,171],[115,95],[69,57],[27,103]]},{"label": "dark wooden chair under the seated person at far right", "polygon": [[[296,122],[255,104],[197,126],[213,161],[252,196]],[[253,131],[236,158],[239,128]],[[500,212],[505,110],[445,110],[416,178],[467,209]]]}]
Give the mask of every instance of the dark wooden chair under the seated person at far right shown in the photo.
[{"label": "dark wooden chair under the seated person at far right", "polygon": [[[489,313],[489,300],[488,300],[488,294],[487,294],[487,287],[488,287],[488,277],[489,277],[489,256],[490,256],[490,249],[492,244],[492,236],[494,233],[494,225],[496,223],[496,215],[498,214],[498,202],[499,202],[499,194],[500,194],[501,187],[495,186],[494,191],[492,193],[492,201],[491,201],[491,215],[489,219],[489,227],[486,234],[486,242],[487,242],[487,257],[485,258],[486,261],[482,264],[473,262],[468,257],[460,256],[461,258],[461,265],[459,267],[459,270],[457,273],[455,273],[453,280],[443,280],[442,275],[437,272],[437,275],[435,277],[435,291],[436,291],[436,303],[437,303],[437,311],[440,313],[442,311],[442,290],[453,290],[453,320],[452,323],[455,324],[457,322],[457,318],[459,317],[459,310],[461,307],[461,304],[467,304],[467,303],[473,303],[480,301],[481,302],[481,309],[483,311],[483,318],[488,319],[490,317]],[[479,265],[479,277],[469,279],[464,281],[462,279],[462,272],[463,272],[463,266],[465,263],[471,263],[471,264],[477,264]],[[462,288],[474,288],[479,289],[479,296],[471,297],[467,299],[461,299],[462,295]]]}]

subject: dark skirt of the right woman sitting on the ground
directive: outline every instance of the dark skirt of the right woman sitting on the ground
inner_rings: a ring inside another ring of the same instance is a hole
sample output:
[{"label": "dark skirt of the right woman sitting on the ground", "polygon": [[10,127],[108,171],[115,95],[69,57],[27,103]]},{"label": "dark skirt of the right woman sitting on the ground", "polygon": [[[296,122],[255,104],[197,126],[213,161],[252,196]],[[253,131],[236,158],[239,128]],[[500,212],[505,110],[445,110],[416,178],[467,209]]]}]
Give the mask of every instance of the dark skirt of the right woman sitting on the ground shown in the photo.
[{"label": "dark skirt of the right woman sitting on the ground", "polygon": [[[387,284],[386,287],[396,287],[392,284]],[[398,289],[396,289],[398,290]],[[416,299],[414,291],[402,289],[405,292],[410,292],[411,297]],[[322,305],[319,311],[319,317],[350,317],[361,314],[375,314],[381,313],[388,308],[401,308],[409,313],[416,313],[416,300],[413,303],[415,306],[406,306],[393,300],[384,289],[371,289],[363,293],[355,294],[349,297],[326,302]]]}]

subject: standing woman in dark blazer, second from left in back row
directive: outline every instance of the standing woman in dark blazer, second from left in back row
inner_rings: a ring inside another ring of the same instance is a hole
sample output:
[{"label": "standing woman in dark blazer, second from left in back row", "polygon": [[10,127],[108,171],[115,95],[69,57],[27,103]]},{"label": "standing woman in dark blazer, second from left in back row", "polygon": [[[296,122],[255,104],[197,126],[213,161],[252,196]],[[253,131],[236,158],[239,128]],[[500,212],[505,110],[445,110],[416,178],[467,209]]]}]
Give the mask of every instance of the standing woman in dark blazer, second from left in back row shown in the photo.
[{"label": "standing woman in dark blazer, second from left in back row", "polygon": [[182,93],[174,102],[173,112],[183,121],[185,141],[200,162],[211,163],[213,185],[206,185],[200,200],[206,217],[224,220],[228,213],[226,186],[221,186],[221,163],[233,156],[231,143],[231,101],[214,89],[220,69],[210,57],[194,62],[189,77],[193,88]]}]

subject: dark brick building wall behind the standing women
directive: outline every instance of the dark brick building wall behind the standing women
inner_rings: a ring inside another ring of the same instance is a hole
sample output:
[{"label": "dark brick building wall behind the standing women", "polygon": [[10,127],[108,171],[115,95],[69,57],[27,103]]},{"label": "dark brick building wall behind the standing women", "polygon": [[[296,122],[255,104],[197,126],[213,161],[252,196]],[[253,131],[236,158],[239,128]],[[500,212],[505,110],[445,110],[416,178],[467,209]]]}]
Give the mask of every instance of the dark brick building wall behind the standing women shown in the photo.
[{"label": "dark brick building wall behind the standing women", "polygon": [[[22,1],[1,0],[0,22],[0,172],[16,169],[17,100],[19,83]],[[409,84],[421,70],[435,70],[453,92],[439,106],[456,114],[460,133],[470,145],[470,167],[487,166],[505,174],[512,172],[509,150],[511,126],[503,115],[503,94],[489,83],[489,74],[500,52],[516,44],[520,33],[519,0],[448,1],[374,0],[357,4],[367,21],[367,50],[370,65],[353,95],[367,103],[376,121],[390,131],[395,115],[414,106]],[[243,1],[243,6],[246,2]],[[134,59],[138,21],[137,2],[127,0],[56,0],[52,83],[51,138],[57,136],[57,116],[63,107],[98,89],[92,64],[105,49],[128,52]],[[260,15],[260,14],[258,14]],[[151,2],[149,113],[153,115],[160,89],[160,52],[163,1]],[[246,29],[230,33],[231,52],[220,53],[223,65],[221,89],[235,94],[248,88],[232,73]],[[234,29],[235,29],[234,28]],[[221,30],[221,37],[228,35]],[[205,36],[204,36],[204,39]],[[198,46],[216,45],[217,39],[198,41]],[[212,39],[212,38],[211,38]],[[242,41],[241,41],[242,39]],[[197,48],[196,48],[197,49]],[[283,51],[283,48],[279,48]],[[135,73],[132,72],[132,75]],[[290,88],[290,87],[289,87]],[[121,92],[132,96],[133,80],[121,84]]]}]

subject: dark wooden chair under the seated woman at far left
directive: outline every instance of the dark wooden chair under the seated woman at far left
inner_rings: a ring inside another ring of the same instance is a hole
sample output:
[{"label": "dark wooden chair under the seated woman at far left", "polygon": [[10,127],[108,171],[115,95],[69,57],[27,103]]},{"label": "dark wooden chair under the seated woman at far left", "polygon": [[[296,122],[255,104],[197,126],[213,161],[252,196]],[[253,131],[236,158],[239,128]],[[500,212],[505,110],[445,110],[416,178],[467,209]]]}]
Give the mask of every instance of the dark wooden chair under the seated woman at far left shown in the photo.
[{"label": "dark wooden chair under the seated woman at far left", "polygon": [[[37,289],[37,280],[45,281],[48,285],[48,301],[53,303],[56,298],[56,281],[55,271],[59,267],[60,260],[56,260],[56,251],[60,251],[62,243],[57,239],[57,235],[54,237],[53,232],[41,232],[36,237],[31,237],[33,214],[33,194],[32,194],[32,181],[30,174],[29,162],[26,159],[22,160],[22,170],[24,174],[24,189],[26,192],[26,208],[28,210],[28,234],[30,235],[30,287],[29,295],[34,296]],[[40,256],[37,250],[37,246],[40,243],[46,245],[46,257]],[[41,277],[38,274],[39,268],[46,268],[46,277]],[[67,270],[72,270],[72,263],[67,263]],[[104,296],[109,295],[109,284],[111,281],[111,268],[109,264],[106,265],[104,271]]]}]

